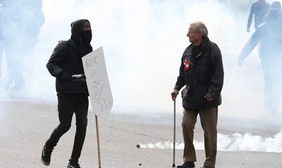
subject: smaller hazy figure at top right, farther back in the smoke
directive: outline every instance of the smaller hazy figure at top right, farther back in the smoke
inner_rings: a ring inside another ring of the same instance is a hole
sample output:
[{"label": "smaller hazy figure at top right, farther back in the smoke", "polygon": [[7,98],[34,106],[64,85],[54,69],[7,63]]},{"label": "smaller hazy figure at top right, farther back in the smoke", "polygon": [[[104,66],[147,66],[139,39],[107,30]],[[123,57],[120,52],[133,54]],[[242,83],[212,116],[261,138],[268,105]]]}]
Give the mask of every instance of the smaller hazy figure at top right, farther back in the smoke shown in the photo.
[{"label": "smaller hazy figure at top right, farther back in the smoke", "polygon": [[265,15],[270,9],[270,4],[266,3],[265,0],[258,0],[258,2],[255,2],[252,4],[249,19],[248,19],[248,25],[247,25],[247,32],[250,32],[251,23],[253,20],[253,15],[255,15],[255,28],[258,28],[258,26],[264,22]]}]

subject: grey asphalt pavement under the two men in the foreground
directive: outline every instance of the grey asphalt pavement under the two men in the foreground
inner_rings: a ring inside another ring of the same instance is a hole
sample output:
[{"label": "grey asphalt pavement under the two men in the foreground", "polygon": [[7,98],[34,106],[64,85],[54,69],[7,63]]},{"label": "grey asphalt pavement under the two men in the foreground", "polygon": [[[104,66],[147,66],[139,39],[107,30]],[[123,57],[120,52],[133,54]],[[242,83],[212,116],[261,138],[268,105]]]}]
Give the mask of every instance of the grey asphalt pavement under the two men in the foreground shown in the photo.
[{"label": "grey asphalt pavement under the two men in the foreground", "polygon": [[[14,96],[17,95],[16,93]],[[1,167],[47,168],[40,161],[41,148],[58,125],[56,105],[38,98],[24,101],[21,96],[0,97],[0,161]],[[134,112],[132,112],[134,113]],[[232,120],[230,120],[231,122]],[[145,117],[137,115],[115,114],[113,111],[108,121],[99,119],[101,148],[101,167],[172,167],[172,149],[142,149],[136,144],[148,144],[173,141],[173,114],[171,117]],[[230,124],[229,122],[229,124]],[[243,122],[243,121],[241,121]],[[238,124],[240,125],[240,124]],[[177,116],[176,141],[183,142],[181,116]],[[218,126],[218,132],[232,134],[234,130],[245,132],[245,127],[232,128]],[[273,136],[279,132],[279,126],[271,129],[252,128],[252,132]],[[75,134],[75,118],[71,129],[62,136],[51,156],[48,168],[67,167],[71,155]],[[199,124],[195,128],[195,138],[202,139],[203,130]],[[175,151],[175,164],[182,162],[183,150]],[[197,150],[196,168],[205,160],[203,150]],[[98,166],[95,115],[88,113],[86,138],[79,163],[82,168]],[[141,163],[142,165],[139,165]],[[282,167],[281,153],[232,151],[217,154],[217,168],[241,167]]]}]

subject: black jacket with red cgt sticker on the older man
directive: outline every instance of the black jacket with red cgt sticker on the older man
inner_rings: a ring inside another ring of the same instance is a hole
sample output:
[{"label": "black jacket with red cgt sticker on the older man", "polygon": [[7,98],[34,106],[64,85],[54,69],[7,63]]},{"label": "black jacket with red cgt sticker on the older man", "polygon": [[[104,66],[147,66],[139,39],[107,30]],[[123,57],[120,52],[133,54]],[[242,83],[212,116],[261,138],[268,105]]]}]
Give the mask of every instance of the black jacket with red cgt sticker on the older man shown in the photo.
[{"label": "black jacket with red cgt sticker on the older man", "polygon": [[[190,109],[209,109],[221,104],[221,90],[223,86],[223,65],[218,46],[205,38],[202,51],[195,60],[193,48],[189,45],[181,58],[179,76],[174,89],[182,90],[182,106]],[[189,61],[189,69],[185,65]],[[214,101],[207,101],[204,96],[213,96]]]}]

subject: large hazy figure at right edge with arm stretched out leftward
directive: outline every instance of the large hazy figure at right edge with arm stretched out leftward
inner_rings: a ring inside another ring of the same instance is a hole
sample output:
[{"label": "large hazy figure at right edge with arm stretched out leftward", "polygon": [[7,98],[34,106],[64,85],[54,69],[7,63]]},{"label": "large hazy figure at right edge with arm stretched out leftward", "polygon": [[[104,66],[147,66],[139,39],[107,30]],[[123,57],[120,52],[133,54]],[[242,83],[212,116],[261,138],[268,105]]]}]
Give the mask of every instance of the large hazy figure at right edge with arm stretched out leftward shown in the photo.
[{"label": "large hazy figure at right edge with arm stretched out leftward", "polygon": [[282,95],[282,12],[281,8],[271,8],[265,22],[257,28],[243,47],[238,63],[252,52],[260,41],[260,59],[264,73],[264,108],[266,112],[277,113]]}]

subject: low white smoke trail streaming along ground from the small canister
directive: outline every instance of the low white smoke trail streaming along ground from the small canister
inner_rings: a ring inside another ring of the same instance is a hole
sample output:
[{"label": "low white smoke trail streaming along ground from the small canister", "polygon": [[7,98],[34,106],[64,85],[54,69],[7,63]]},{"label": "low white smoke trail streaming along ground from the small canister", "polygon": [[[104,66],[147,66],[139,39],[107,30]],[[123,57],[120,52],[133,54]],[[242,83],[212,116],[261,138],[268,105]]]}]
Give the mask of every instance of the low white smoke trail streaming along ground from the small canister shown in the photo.
[{"label": "low white smoke trail streaming along ground from the small canister", "polygon": [[[205,150],[204,141],[193,141],[195,150]],[[140,148],[149,149],[173,149],[173,142],[158,142],[155,144],[140,144]],[[183,142],[175,142],[175,149],[184,149]],[[261,152],[276,152],[282,153],[282,129],[273,138],[263,138],[259,135],[252,135],[246,132],[244,135],[234,133],[232,136],[225,134],[217,134],[217,150],[218,151],[261,151]]]}]

